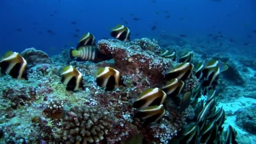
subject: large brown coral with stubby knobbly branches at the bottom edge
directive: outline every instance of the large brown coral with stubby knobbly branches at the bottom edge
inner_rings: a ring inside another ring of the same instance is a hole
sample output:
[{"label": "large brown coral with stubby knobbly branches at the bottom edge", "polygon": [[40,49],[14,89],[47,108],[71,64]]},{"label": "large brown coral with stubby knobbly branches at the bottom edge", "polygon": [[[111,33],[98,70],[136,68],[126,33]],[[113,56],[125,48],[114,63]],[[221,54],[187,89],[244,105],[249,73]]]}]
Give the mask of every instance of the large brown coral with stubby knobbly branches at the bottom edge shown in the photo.
[{"label": "large brown coral with stubby knobbly branches at the bottom edge", "polygon": [[86,144],[104,139],[112,126],[112,118],[107,111],[98,107],[74,107],[64,116],[63,140],[66,143]]}]

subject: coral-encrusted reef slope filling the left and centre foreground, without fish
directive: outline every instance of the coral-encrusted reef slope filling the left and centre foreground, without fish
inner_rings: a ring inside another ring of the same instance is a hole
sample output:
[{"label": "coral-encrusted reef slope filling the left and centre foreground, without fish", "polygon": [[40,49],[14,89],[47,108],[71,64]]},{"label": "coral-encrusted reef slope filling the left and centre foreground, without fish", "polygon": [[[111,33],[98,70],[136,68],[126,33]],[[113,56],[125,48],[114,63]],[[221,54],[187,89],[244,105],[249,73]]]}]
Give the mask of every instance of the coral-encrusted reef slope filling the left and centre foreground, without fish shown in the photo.
[{"label": "coral-encrusted reef slope filling the left and centre foreground, without fish", "polygon": [[[170,51],[178,51],[179,56],[194,46],[183,38],[173,39],[175,44],[166,46]],[[27,69],[29,80],[0,77],[0,143],[168,144],[182,127],[195,120],[195,107],[189,105],[182,112],[179,109],[184,93],[200,84],[194,73],[184,80],[184,89],[178,96],[166,98],[165,115],[156,124],[147,125],[133,117],[136,109],[132,104],[139,93],[163,85],[166,70],[178,64],[159,56],[156,40],[109,39],[99,40],[96,46],[113,59],[99,63],[71,61],[68,50],[51,59],[34,48],[21,53],[31,64]],[[195,52],[194,59],[197,61],[200,56]],[[67,64],[82,73],[83,90],[66,91],[61,83],[59,69]],[[99,67],[117,69],[124,86],[104,91],[94,77]]]}]

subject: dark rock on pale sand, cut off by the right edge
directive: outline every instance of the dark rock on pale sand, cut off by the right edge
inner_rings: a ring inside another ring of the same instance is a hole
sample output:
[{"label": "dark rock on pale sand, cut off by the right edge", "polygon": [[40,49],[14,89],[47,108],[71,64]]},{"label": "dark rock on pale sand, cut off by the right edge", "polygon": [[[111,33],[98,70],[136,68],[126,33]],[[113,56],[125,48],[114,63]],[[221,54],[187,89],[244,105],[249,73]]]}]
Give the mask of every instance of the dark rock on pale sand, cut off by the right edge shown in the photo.
[{"label": "dark rock on pale sand, cut off by the right edge", "polygon": [[238,109],[236,112],[236,123],[246,131],[256,134],[256,104],[251,107]]}]

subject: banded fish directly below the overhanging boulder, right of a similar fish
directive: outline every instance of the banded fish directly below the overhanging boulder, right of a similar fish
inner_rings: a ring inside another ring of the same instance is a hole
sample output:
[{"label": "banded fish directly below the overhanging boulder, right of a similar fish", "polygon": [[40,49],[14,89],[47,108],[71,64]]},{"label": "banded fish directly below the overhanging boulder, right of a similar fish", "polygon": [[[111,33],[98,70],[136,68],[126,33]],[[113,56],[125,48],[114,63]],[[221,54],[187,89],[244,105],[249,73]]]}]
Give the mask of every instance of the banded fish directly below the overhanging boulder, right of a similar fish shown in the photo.
[{"label": "banded fish directly below the overhanging boulder, right of a similar fish", "polygon": [[123,85],[121,78],[120,72],[112,67],[101,67],[96,72],[96,83],[105,87],[105,91],[111,91]]}]

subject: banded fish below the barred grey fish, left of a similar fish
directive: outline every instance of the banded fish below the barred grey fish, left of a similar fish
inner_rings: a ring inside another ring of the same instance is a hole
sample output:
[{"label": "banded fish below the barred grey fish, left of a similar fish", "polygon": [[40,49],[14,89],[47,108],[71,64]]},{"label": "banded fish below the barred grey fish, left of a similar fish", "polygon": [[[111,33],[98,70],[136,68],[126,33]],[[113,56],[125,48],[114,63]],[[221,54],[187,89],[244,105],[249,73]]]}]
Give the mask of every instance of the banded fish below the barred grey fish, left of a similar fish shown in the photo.
[{"label": "banded fish below the barred grey fish, left of a similar fish", "polygon": [[73,66],[66,66],[61,72],[61,82],[66,85],[68,91],[77,91],[83,89],[83,76]]}]

